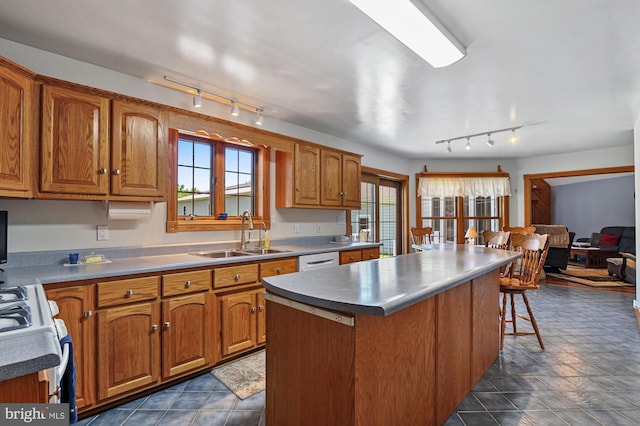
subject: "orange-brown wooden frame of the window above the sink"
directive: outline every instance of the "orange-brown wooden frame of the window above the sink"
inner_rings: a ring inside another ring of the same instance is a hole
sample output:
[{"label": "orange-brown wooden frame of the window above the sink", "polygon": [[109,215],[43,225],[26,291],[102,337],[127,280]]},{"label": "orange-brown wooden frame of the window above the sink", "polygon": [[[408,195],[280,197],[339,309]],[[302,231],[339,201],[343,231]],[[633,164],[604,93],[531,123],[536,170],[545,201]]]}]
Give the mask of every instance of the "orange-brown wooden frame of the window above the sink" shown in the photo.
[{"label": "orange-brown wooden frame of the window above the sink", "polygon": [[[167,194],[167,232],[183,231],[223,231],[241,229],[241,217],[229,216],[225,220],[218,219],[217,216],[196,216],[194,219],[186,220],[178,215],[177,191],[178,186],[178,140],[181,135],[188,136],[189,139],[200,141],[211,141],[221,147],[250,148],[256,155],[255,166],[255,212],[253,220],[264,222],[267,229],[271,228],[270,218],[270,149],[263,145],[253,145],[248,141],[230,141],[218,137],[212,137],[201,132],[189,132],[174,128],[169,129],[169,191]],[[213,170],[216,179],[212,185],[215,205],[224,205],[224,149],[221,154],[215,156]],[[222,158],[222,160],[221,160]],[[215,212],[214,212],[215,213]]]}]

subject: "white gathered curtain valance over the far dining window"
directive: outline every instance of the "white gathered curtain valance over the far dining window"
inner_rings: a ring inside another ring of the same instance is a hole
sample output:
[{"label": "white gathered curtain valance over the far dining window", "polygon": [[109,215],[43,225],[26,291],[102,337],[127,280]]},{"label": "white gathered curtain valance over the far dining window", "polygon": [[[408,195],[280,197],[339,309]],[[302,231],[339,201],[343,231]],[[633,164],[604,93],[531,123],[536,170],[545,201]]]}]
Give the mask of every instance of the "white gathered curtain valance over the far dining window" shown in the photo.
[{"label": "white gathered curtain valance over the far dining window", "polygon": [[508,177],[420,178],[419,197],[504,197],[511,194]]}]

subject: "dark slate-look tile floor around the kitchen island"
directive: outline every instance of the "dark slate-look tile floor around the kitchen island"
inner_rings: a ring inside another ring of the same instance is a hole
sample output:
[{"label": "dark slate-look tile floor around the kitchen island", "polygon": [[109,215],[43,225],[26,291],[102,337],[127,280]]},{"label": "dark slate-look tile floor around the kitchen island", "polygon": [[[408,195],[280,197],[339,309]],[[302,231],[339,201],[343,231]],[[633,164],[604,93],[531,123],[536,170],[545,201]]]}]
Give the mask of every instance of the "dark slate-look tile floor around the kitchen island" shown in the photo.
[{"label": "dark slate-look tile floor around the kitchen island", "polygon": [[[633,299],[554,285],[529,292],[546,349],[535,336],[507,336],[446,425],[640,425]],[[243,401],[206,373],[81,424],[253,426],[264,425],[263,409],[264,392]]]}]

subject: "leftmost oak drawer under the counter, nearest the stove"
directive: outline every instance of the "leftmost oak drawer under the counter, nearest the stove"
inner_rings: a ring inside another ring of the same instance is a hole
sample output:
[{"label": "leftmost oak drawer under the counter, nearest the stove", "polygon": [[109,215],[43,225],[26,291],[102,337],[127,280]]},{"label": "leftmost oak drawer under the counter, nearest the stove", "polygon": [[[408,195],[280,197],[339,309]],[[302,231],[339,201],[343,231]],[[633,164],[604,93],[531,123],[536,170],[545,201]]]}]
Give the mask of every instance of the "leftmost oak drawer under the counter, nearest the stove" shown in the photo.
[{"label": "leftmost oak drawer under the counter, nearest the stove", "polygon": [[153,300],[160,293],[160,277],[98,283],[98,307]]}]

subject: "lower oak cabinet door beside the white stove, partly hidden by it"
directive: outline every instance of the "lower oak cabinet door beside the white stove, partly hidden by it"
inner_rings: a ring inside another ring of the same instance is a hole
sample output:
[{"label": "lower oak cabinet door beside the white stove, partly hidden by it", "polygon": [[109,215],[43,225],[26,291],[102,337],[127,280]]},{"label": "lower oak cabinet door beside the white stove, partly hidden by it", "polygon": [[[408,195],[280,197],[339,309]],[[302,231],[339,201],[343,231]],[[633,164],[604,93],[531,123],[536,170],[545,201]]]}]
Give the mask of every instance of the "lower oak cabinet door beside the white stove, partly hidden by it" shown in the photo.
[{"label": "lower oak cabinet door beside the white stove, partly hidden by it", "polygon": [[47,290],[47,298],[57,303],[58,318],[64,320],[73,342],[78,408],[90,406],[96,393],[94,286]]}]

